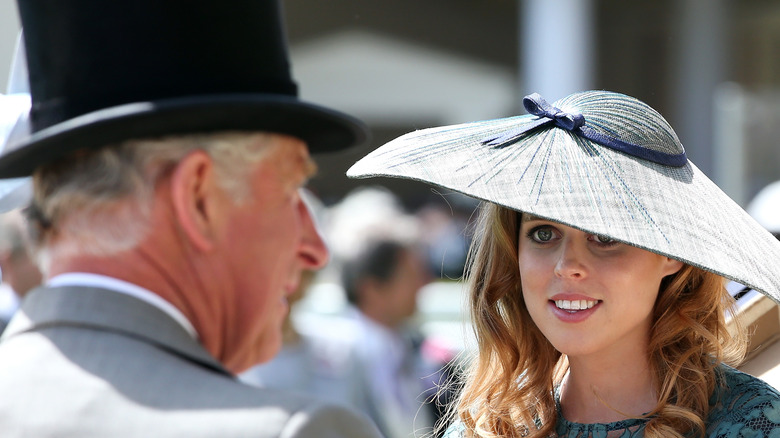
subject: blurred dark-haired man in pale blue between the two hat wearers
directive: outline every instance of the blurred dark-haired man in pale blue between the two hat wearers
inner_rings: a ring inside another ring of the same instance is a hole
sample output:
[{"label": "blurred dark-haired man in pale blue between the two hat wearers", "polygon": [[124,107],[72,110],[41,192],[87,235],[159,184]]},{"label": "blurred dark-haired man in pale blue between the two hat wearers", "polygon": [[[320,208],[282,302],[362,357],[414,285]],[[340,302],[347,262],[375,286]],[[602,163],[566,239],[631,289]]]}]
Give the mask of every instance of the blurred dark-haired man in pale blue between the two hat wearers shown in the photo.
[{"label": "blurred dark-haired man in pale blue between the two hat wearers", "polygon": [[370,242],[358,259],[344,264],[343,284],[355,306],[359,333],[355,355],[365,372],[360,406],[387,437],[429,433],[436,392],[434,364],[421,355],[422,336],[408,327],[419,290],[427,283],[427,265],[416,249],[392,238]]}]

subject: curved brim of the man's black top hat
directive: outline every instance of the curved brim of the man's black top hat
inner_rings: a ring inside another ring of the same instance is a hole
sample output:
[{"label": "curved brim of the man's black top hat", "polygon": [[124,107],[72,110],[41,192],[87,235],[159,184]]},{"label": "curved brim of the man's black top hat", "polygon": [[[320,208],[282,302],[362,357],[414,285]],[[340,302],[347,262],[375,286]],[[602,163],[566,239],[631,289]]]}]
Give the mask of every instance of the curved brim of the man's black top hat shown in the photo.
[{"label": "curved brim of the man's black top hat", "polygon": [[312,153],[368,141],[359,120],[295,97],[221,94],[130,103],[52,125],[10,144],[0,156],[0,178],[29,176],[69,152],[129,139],[216,131],[268,131],[300,138]]}]

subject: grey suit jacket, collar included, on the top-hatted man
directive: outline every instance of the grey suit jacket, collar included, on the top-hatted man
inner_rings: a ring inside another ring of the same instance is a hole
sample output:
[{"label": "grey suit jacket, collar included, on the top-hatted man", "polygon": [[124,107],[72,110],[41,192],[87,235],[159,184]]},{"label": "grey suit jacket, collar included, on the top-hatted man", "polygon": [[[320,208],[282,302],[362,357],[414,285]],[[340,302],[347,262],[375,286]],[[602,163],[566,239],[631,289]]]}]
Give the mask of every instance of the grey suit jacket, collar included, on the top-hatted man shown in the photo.
[{"label": "grey suit jacket, collar included, on the top-hatted man", "polygon": [[244,385],[180,325],[93,288],[30,293],[0,342],[3,437],[378,437],[345,407]]}]

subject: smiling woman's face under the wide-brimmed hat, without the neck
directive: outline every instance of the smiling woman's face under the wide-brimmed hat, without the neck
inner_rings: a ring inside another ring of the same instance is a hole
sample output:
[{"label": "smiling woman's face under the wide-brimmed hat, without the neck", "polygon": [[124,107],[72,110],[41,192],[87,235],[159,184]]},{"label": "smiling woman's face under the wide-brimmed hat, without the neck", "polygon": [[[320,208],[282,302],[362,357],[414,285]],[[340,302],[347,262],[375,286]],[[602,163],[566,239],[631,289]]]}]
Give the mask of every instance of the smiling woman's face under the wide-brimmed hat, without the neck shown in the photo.
[{"label": "smiling woman's face under the wide-brimmed hat, without the neck", "polygon": [[518,261],[531,318],[570,359],[646,349],[661,280],[682,267],[527,214],[520,221]]}]

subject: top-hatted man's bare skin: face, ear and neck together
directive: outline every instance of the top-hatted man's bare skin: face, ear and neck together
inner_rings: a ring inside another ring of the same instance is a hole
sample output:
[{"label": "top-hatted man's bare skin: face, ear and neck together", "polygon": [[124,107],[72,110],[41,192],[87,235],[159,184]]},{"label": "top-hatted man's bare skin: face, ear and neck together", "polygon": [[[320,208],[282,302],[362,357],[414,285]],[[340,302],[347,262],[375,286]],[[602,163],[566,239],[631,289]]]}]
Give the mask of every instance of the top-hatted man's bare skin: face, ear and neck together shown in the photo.
[{"label": "top-hatted man's bare skin: face, ear and neck together", "polygon": [[328,251],[300,196],[315,166],[302,141],[272,135],[271,150],[236,204],[203,151],[155,187],[152,226],[134,249],[52,260],[51,274],[92,272],[149,289],[178,308],[199,341],[239,373],[281,348],[286,297]]}]

